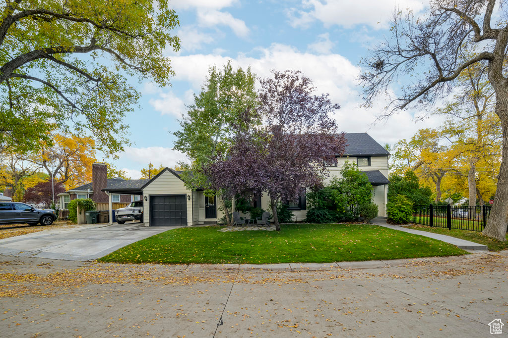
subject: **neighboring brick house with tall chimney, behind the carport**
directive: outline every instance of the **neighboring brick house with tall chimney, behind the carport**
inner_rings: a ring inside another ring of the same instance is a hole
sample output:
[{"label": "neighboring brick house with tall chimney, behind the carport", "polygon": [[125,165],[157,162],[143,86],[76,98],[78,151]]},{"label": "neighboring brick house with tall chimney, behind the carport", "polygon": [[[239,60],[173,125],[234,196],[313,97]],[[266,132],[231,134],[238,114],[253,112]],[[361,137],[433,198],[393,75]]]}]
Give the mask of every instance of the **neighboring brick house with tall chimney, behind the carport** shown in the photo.
[{"label": "neighboring brick house with tall chimney, behind the carport", "polygon": [[[121,177],[108,178],[106,164],[94,163],[92,164],[92,181],[70,189],[63,194],[58,194],[60,206],[62,209],[67,209],[69,202],[77,198],[90,198],[93,202],[108,203],[108,195],[103,191],[104,189],[140,184],[147,181],[147,179],[126,180]],[[135,195],[112,194],[113,203],[130,203],[140,198],[140,196]]]}]

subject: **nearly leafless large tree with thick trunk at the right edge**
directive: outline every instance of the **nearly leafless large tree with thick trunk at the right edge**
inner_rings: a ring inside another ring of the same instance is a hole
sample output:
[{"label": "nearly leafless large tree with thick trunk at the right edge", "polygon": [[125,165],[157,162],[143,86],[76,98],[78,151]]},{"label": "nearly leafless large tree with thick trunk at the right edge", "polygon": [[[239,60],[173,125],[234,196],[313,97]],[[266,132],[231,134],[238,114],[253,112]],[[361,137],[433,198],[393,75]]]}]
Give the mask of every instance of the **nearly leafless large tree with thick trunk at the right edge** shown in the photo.
[{"label": "nearly leafless large tree with thick trunk at the right edge", "polygon": [[[379,96],[393,97],[391,85],[400,88],[388,104],[386,115],[390,116],[411,103],[420,107],[435,103],[451,92],[464,69],[477,63],[486,65],[503,146],[494,206],[483,234],[500,241],[506,240],[508,223],[507,10],[505,0],[431,0],[421,17],[398,12],[391,37],[362,61],[368,70],[361,77],[367,106]],[[493,17],[500,19],[492,22]],[[471,50],[477,53],[469,55]],[[401,87],[396,82],[407,85]]]}]

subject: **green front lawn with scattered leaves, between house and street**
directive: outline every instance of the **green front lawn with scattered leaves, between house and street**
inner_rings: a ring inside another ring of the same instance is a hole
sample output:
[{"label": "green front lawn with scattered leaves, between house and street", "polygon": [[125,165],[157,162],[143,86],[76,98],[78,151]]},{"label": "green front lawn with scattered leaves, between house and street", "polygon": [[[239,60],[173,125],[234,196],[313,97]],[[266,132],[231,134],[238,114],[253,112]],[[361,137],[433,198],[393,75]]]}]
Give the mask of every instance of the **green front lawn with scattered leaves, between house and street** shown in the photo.
[{"label": "green front lawn with scattered leaves, between house and street", "polygon": [[280,232],[170,230],[101,259],[120,263],[269,264],[396,259],[466,254],[456,246],[371,224],[289,224]]}]

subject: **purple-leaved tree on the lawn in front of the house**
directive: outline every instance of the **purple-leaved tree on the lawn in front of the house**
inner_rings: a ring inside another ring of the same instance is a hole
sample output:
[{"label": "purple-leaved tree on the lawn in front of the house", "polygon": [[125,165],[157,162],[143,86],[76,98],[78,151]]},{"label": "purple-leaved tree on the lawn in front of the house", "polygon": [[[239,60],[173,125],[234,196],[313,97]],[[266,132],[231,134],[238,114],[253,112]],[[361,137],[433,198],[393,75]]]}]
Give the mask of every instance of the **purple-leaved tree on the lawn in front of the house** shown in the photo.
[{"label": "purple-leaved tree on the lawn in front of the house", "polygon": [[300,71],[272,71],[261,80],[258,111],[264,125],[239,130],[222,161],[211,166],[215,186],[240,192],[267,192],[276,230],[279,201],[298,200],[306,187],[320,185],[327,162],[345,149],[344,134],[329,115],[340,108],[328,94],[315,94]]}]

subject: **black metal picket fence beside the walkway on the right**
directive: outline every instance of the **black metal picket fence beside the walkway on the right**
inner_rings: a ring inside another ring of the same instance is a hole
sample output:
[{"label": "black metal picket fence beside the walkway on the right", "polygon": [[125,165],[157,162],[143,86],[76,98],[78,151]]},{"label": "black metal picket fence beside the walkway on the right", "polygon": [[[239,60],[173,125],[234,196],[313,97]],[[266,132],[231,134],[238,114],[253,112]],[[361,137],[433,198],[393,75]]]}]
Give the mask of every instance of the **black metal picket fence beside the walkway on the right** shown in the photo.
[{"label": "black metal picket fence beside the walkway on the right", "polygon": [[490,205],[451,206],[415,205],[411,221],[425,226],[483,231],[489,219]]}]

